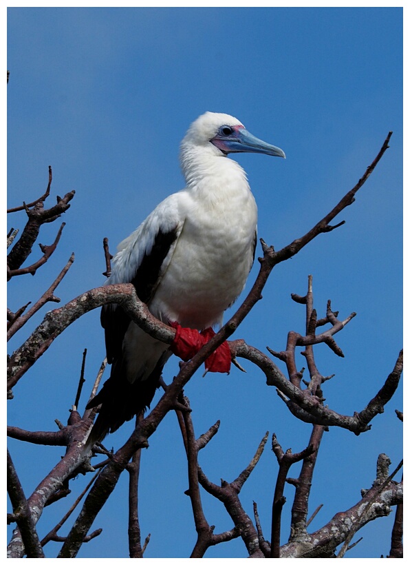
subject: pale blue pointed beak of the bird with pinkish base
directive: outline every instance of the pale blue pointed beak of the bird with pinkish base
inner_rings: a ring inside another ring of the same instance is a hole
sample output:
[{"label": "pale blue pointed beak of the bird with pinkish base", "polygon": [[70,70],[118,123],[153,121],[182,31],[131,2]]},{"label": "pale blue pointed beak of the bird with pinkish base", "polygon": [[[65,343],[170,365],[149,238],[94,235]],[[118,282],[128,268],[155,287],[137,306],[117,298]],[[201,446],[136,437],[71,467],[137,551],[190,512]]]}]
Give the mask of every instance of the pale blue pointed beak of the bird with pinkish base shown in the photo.
[{"label": "pale blue pointed beak of the bird with pinkish base", "polygon": [[229,136],[217,134],[211,139],[211,143],[226,154],[263,153],[274,157],[286,158],[285,153],[279,147],[258,139],[240,125],[233,127],[233,132]]}]

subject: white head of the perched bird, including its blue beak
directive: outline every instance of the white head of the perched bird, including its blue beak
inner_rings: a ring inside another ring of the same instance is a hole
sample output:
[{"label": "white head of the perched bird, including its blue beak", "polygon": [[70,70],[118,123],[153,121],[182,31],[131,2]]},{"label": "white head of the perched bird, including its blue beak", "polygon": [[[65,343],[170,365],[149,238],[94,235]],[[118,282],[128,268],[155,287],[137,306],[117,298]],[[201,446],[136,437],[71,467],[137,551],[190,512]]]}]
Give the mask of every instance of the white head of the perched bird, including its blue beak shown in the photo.
[{"label": "white head of the perched bird, including its blue beak", "polygon": [[211,149],[219,156],[228,153],[263,153],[276,157],[285,157],[285,153],[253,136],[245,126],[229,114],[206,112],[199,116],[189,127],[182,141],[184,147]]}]

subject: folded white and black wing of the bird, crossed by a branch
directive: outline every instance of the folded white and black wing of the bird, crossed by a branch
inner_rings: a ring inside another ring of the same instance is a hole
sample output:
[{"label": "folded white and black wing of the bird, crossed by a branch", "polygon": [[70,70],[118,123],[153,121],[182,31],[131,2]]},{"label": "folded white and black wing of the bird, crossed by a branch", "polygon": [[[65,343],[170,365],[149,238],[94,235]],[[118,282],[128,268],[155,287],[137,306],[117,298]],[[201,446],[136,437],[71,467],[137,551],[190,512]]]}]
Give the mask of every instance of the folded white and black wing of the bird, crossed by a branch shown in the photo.
[{"label": "folded white and black wing of the bird, crossed by a branch", "polygon": [[[158,287],[184,225],[184,196],[171,194],[144,222],[118,245],[107,284],[133,283],[138,298],[149,302]],[[101,325],[105,329],[107,360],[122,356],[122,342],[129,327],[129,317],[117,305],[105,305]]]}]

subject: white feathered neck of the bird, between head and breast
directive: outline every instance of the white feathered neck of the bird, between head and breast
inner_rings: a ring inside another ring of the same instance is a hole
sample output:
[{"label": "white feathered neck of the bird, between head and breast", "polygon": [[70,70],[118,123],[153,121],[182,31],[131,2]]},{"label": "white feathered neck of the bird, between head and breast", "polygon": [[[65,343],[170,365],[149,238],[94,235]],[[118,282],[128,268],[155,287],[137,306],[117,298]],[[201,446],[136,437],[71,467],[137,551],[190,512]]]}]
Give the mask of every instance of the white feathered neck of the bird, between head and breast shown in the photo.
[{"label": "white feathered neck of the bird, between head and breast", "polygon": [[239,163],[213,151],[191,149],[183,152],[181,166],[186,187],[203,198],[250,190],[246,172]]}]

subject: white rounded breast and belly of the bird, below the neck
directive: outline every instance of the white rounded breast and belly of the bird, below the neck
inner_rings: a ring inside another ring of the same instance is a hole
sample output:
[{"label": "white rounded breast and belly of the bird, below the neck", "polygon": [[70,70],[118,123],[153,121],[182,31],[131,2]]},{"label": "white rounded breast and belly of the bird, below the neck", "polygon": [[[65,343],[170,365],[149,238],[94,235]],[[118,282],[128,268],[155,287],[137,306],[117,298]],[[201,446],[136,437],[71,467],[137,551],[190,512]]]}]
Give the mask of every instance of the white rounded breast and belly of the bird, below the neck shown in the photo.
[{"label": "white rounded breast and belly of the bird, below the neck", "polygon": [[155,292],[155,316],[184,327],[220,323],[246,283],[253,260],[257,207],[249,189],[235,198],[195,201]]}]

